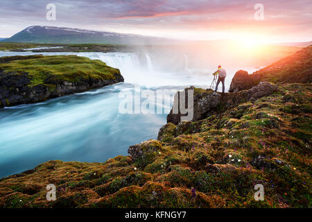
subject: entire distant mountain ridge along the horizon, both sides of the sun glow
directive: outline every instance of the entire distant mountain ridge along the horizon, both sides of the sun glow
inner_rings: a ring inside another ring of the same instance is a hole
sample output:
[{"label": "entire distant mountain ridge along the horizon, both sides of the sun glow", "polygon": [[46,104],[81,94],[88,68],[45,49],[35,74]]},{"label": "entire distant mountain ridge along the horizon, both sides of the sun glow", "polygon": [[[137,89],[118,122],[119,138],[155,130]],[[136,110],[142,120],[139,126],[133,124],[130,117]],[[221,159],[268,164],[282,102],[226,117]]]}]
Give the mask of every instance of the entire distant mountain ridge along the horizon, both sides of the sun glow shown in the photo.
[{"label": "entire distant mountain ridge along the horizon, both sides of the sun glow", "polygon": [[[48,32],[49,31],[49,32]],[[33,42],[54,44],[231,44],[237,40],[177,40],[111,31],[96,31],[85,28],[57,26],[28,26],[11,37],[0,38],[0,42]],[[271,46],[309,46],[310,42],[285,42],[268,44]]]}]

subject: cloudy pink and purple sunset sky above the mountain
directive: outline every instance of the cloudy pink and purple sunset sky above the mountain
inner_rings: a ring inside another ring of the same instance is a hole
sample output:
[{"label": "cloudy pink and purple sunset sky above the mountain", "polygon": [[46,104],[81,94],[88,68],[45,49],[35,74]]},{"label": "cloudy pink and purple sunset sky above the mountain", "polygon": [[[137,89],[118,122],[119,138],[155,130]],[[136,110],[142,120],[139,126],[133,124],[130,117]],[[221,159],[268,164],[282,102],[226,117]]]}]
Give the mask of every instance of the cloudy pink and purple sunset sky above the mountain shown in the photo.
[{"label": "cloudy pink and purple sunset sky above the mountain", "polygon": [[[49,3],[56,12],[51,21]],[[306,42],[312,40],[312,1],[0,0],[0,37],[35,25],[185,40]]]}]

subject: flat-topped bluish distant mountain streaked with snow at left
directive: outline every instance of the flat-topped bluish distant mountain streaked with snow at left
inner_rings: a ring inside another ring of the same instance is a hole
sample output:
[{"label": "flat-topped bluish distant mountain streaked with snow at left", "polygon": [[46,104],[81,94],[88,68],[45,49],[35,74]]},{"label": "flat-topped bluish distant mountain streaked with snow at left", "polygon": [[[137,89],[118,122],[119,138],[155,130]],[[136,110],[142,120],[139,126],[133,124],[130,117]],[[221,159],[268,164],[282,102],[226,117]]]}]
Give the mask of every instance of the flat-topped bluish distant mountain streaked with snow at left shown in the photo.
[{"label": "flat-topped bluish distant mountain streaked with snow at left", "polygon": [[30,26],[3,42],[35,43],[105,43],[105,44],[173,44],[175,40],[80,28]]}]

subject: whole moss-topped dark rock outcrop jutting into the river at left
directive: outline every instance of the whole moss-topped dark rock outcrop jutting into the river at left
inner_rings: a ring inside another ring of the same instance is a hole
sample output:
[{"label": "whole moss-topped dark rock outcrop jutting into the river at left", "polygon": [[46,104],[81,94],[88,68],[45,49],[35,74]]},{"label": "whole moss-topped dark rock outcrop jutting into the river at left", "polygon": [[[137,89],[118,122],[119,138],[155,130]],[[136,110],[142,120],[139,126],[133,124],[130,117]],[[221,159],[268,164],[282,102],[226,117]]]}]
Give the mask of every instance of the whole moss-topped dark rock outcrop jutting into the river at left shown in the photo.
[{"label": "whole moss-topped dark rock outcrop jutting into the river at left", "polygon": [[0,58],[0,108],[123,82],[119,69],[78,56]]}]

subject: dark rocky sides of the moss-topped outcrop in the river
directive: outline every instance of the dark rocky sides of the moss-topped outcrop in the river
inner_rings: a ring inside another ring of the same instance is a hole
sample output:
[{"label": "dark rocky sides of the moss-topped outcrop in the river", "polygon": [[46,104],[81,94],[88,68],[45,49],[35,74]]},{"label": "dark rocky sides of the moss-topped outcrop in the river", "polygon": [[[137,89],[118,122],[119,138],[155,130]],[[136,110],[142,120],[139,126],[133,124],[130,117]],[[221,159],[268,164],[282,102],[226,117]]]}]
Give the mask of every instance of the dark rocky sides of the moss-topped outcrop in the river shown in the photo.
[{"label": "dark rocky sides of the moss-topped outcrop in the river", "polygon": [[[44,58],[43,56],[13,56],[1,58],[0,65],[12,60]],[[105,63],[103,63],[105,66]],[[21,69],[22,70],[22,69]],[[89,89],[104,87],[123,82],[119,69],[112,72],[114,78],[94,78],[83,76],[75,80],[54,78],[53,74],[44,76],[44,83],[31,85],[33,79],[26,71],[6,72],[0,68],[0,108],[12,105],[36,103],[46,99],[83,92]]]}]

